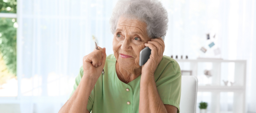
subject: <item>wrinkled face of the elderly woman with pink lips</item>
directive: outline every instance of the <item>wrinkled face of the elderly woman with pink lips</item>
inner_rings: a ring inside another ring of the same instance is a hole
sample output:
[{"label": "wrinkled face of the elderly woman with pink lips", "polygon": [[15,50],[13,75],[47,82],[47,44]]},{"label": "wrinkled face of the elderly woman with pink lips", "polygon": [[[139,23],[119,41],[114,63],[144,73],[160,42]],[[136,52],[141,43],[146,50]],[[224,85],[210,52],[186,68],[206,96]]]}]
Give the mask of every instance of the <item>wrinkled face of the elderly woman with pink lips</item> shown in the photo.
[{"label": "wrinkled face of the elderly woman with pink lips", "polygon": [[113,51],[122,68],[140,68],[140,51],[145,48],[150,38],[147,24],[138,20],[120,17],[113,38]]}]

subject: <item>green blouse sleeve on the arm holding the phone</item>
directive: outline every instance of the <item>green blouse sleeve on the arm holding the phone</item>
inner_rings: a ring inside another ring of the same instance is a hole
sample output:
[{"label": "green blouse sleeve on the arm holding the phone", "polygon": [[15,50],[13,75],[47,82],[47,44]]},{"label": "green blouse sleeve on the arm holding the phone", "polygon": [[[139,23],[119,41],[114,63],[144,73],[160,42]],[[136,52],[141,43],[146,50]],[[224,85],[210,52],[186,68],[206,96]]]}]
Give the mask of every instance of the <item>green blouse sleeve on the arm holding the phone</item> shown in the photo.
[{"label": "green blouse sleeve on the arm holding the phone", "polygon": [[181,100],[181,70],[178,62],[175,60],[170,61],[156,81],[156,86],[162,102],[177,107],[177,113],[179,113]]}]

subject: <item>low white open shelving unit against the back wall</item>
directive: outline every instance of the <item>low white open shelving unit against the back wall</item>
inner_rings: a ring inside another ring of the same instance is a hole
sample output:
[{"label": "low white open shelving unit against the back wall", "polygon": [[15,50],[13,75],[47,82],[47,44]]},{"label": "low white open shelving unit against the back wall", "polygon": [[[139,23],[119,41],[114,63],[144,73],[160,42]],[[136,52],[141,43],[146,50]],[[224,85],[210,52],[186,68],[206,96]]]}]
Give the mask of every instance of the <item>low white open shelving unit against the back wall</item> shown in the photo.
[{"label": "low white open shelving unit against the back wall", "polygon": [[[245,113],[246,60],[176,59],[176,61],[180,64],[181,70],[192,71],[192,76],[198,78],[198,92],[211,92],[210,113],[223,112],[220,111],[221,92],[233,92],[232,112]],[[211,71],[211,77],[208,78],[203,74],[205,69]],[[227,73],[228,75],[225,75]],[[226,78],[225,80],[231,78],[229,81],[234,84],[225,86],[223,78]]]}]

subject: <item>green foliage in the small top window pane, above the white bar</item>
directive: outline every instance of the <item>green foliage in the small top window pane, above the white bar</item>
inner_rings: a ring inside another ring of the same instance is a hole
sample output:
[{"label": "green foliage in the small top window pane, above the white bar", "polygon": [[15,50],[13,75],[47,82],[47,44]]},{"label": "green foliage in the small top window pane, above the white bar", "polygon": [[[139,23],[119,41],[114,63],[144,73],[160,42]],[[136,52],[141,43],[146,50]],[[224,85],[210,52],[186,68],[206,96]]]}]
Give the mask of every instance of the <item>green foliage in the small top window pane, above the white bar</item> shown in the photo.
[{"label": "green foliage in the small top window pane, above the white bar", "polygon": [[0,13],[16,13],[17,0],[0,0]]}]

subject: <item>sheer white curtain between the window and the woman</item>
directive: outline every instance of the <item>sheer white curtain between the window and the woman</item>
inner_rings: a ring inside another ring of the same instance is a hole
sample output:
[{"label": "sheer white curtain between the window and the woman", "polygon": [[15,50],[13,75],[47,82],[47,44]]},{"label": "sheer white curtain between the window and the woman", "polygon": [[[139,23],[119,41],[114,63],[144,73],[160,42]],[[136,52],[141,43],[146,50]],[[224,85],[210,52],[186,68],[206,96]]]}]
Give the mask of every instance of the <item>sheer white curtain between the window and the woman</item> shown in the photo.
[{"label": "sheer white curtain between the window and the woman", "polygon": [[57,113],[94,40],[112,54],[114,1],[19,0],[18,78],[22,113]]}]

